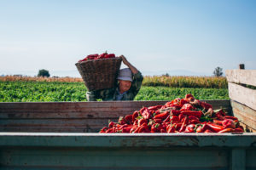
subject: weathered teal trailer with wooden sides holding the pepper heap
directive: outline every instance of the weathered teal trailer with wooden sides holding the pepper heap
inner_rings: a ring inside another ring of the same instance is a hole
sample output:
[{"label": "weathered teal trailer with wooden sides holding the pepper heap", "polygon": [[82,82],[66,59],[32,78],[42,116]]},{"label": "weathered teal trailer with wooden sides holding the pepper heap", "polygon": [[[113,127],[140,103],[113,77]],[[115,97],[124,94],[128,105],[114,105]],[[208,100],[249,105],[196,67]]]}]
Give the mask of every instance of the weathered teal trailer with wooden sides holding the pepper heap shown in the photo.
[{"label": "weathered teal trailer with wooden sides holding the pepper heap", "polygon": [[204,101],[240,116],[248,132],[98,133],[109,120],[166,101],[0,103],[0,169],[256,169],[253,108]]}]

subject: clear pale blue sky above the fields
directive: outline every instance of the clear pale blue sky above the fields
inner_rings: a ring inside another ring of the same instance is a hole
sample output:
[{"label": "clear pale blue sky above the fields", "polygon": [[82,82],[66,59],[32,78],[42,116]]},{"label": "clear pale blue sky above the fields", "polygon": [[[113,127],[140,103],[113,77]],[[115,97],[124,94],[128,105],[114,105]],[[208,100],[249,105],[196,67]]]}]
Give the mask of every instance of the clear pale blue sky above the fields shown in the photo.
[{"label": "clear pale blue sky above the fields", "polygon": [[256,69],[256,1],[0,0],[0,75],[79,77],[106,50],[143,75]]}]

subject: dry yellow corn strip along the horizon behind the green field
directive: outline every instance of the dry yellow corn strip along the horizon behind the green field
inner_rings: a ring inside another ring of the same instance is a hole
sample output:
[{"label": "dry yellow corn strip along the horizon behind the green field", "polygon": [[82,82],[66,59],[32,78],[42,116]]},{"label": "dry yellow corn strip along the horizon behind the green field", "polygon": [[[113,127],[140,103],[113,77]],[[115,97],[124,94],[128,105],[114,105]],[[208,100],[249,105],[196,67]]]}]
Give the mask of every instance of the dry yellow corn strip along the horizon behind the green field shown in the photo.
[{"label": "dry yellow corn strip along the horizon behind the green field", "polygon": [[[83,82],[74,77],[0,77],[2,82]],[[144,77],[143,86],[163,86],[172,88],[227,88],[225,77]]]}]

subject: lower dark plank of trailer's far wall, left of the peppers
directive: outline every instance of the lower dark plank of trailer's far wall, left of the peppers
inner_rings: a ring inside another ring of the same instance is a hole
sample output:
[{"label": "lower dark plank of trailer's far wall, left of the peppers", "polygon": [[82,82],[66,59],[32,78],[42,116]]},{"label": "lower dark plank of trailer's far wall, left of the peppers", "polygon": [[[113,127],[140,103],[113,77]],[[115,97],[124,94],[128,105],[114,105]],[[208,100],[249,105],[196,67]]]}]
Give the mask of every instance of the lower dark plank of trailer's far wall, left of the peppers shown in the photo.
[{"label": "lower dark plank of trailer's far wall, left of the peppers", "polygon": [[[0,119],[0,132],[99,132],[109,119]],[[117,119],[111,119],[117,122]]]}]

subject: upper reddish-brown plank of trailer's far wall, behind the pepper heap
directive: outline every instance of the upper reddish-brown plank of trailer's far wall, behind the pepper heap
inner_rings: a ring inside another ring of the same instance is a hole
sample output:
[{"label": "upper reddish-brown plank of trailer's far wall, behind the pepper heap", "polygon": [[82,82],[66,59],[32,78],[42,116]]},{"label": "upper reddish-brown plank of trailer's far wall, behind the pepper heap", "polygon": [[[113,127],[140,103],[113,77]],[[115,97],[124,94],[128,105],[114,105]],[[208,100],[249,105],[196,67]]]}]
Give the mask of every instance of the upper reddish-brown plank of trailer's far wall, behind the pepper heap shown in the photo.
[{"label": "upper reddish-brown plank of trailer's far wall, behind the pepper heap", "polygon": [[[230,100],[204,100],[213,109],[230,110]],[[164,105],[167,101],[125,101],[125,102],[42,102],[42,103],[0,103],[1,119],[78,119],[109,118],[132,114],[143,106]],[[117,104],[118,103],[118,104]],[[66,105],[67,104],[67,105]],[[92,106],[99,105],[99,107]],[[129,107],[128,107],[129,106]]]}]

